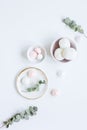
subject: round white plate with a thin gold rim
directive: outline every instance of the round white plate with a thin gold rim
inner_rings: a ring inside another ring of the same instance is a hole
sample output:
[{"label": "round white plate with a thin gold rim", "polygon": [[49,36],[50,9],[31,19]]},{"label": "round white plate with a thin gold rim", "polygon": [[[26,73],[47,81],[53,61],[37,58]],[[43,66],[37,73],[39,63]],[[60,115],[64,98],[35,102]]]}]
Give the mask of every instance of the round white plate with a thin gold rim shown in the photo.
[{"label": "round white plate with a thin gold rim", "polygon": [[[23,84],[22,80],[24,77],[28,76],[28,73],[30,71],[34,71],[35,75],[33,77],[28,77],[30,83],[28,86],[26,86]],[[38,91],[33,91],[33,92],[26,91],[27,88],[30,88],[30,87],[36,85],[39,80],[42,80],[42,81],[45,80],[46,83],[40,85]],[[41,96],[43,96],[47,90],[47,85],[48,85],[48,79],[47,79],[47,76],[45,75],[45,73],[42,70],[40,70],[38,68],[34,68],[34,67],[30,67],[30,68],[26,68],[26,69],[22,70],[18,74],[17,80],[16,80],[16,86],[17,86],[17,90],[18,90],[19,94],[27,99],[37,99],[37,98],[40,98]]]}]

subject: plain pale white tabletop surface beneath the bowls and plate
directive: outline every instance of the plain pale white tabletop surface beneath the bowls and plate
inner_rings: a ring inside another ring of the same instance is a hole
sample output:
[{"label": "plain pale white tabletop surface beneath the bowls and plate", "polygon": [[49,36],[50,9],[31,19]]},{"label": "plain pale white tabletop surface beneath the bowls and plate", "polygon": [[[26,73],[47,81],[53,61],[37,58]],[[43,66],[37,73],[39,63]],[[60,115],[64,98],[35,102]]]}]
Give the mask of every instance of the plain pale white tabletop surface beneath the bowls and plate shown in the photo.
[{"label": "plain pale white tabletop surface beneath the bowls and plate", "polygon": [[[75,38],[61,22],[69,16],[87,31],[86,0],[0,0],[0,122],[29,105],[38,106],[37,116],[20,121],[9,130],[87,130],[87,39],[77,43],[76,60],[61,64],[49,55],[50,46],[60,35]],[[35,65],[48,76],[47,93],[30,101],[21,97],[15,87],[16,75],[29,67],[24,57],[30,41],[43,45],[48,56]],[[65,76],[58,78],[57,70]],[[52,97],[58,88],[61,95]]]}]

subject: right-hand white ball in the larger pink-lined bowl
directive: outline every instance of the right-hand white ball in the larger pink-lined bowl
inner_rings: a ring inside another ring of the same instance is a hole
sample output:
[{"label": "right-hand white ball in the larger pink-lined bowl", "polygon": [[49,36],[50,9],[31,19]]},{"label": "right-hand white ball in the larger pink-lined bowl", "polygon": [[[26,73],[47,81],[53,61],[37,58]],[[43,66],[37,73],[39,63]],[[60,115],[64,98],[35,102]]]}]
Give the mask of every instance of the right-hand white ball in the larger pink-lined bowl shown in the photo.
[{"label": "right-hand white ball in the larger pink-lined bowl", "polygon": [[73,60],[77,56],[77,51],[74,48],[65,48],[62,54],[65,59]]}]

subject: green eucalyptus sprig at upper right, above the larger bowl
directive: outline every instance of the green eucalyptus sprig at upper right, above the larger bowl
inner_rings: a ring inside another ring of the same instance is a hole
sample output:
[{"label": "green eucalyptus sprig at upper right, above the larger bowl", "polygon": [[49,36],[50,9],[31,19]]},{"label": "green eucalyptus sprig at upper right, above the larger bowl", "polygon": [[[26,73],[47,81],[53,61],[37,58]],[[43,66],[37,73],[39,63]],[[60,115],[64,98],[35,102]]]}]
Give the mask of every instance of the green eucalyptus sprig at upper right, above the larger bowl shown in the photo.
[{"label": "green eucalyptus sprig at upper right, above the larger bowl", "polygon": [[87,36],[84,33],[84,29],[81,27],[81,25],[78,25],[74,20],[71,20],[69,17],[66,17],[62,21],[67,26],[69,26],[72,30],[74,30],[75,32],[79,32],[81,34],[84,34],[84,36],[87,38]]}]

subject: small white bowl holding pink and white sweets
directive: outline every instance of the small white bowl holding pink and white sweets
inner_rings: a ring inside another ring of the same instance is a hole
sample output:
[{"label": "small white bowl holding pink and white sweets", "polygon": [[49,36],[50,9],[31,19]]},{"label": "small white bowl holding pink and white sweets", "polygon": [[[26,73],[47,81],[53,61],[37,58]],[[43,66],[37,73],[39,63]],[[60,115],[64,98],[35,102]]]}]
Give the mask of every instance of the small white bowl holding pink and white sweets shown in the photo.
[{"label": "small white bowl holding pink and white sweets", "polygon": [[[42,55],[43,55],[43,58],[42,58],[41,60],[32,59],[32,58],[29,56],[29,53],[30,53],[31,51],[33,51],[35,48],[41,48]],[[39,45],[30,46],[30,47],[28,48],[28,50],[27,50],[27,58],[28,58],[28,60],[29,60],[31,63],[33,63],[33,64],[37,64],[37,63],[42,62],[42,61],[45,59],[45,57],[46,57],[46,50],[45,50],[45,48],[43,48],[43,47],[41,47],[41,46],[39,46]]]}]

